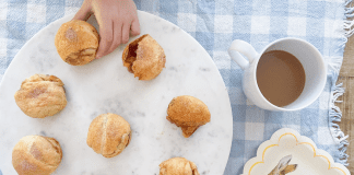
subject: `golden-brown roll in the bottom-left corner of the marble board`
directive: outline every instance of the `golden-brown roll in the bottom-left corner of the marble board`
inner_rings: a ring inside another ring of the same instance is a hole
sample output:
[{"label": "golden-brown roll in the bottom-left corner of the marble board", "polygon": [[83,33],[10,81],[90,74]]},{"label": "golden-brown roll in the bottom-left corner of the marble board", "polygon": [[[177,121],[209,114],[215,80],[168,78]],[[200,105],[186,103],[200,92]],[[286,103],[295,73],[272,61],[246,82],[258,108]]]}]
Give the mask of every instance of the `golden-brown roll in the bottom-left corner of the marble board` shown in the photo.
[{"label": "golden-brown roll in the bottom-left corner of the marble board", "polygon": [[61,162],[59,142],[54,138],[26,136],[12,151],[12,165],[19,175],[49,175]]}]

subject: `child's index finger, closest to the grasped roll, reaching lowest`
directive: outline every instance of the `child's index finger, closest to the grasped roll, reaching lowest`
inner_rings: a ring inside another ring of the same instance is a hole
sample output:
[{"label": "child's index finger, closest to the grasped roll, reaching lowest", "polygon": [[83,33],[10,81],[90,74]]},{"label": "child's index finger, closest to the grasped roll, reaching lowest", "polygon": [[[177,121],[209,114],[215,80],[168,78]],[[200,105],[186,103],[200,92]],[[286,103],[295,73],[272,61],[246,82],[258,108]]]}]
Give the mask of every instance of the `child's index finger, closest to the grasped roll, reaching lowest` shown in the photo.
[{"label": "child's index finger, closest to the grasped roll, reaching lowest", "polygon": [[110,20],[105,20],[105,21],[106,22],[103,22],[102,25],[99,25],[101,40],[96,54],[97,59],[108,54],[108,49],[110,48],[110,45],[114,39],[113,21]]}]

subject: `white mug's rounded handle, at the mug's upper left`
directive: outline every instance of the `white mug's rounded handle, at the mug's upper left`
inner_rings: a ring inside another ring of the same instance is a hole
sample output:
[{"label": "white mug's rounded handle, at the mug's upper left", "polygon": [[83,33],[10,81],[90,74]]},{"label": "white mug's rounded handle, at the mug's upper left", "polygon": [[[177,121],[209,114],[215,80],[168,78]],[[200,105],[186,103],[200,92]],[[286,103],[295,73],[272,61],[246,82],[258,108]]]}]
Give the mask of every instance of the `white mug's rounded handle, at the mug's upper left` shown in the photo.
[{"label": "white mug's rounded handle, at the mug's upper left", "polygon": [[[248,60],[246,60],[240,54],[245,55]],[[245,70],[249,67],[249,63],[257,58],[258,52],[249,43],[236,39],[229,46],[228,55],[243,70]]]}]

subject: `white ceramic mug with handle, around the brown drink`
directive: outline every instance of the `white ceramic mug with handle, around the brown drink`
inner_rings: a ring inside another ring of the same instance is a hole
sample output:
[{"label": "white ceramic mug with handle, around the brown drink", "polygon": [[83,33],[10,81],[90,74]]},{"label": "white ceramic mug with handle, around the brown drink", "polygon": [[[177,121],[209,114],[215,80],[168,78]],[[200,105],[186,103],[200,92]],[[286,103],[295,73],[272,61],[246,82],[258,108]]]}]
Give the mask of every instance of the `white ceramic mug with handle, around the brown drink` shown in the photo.
[{"label": "white ceramic mug with handle, around the brown drink", "polygon": [[[283,50],[295,56],[304,67],[306,81],[302,94],[290,105],[279,107],[271,104],[261,93],[257,84],[257,66],[260,57],[271,50]],[[243,89],[258,107],[269,110],[297,110],[314,103],[324,89],[327,69],[323,57],[318,49],[306,40],[298,38],[282,38],[269,44],[260,54],[244,40],[234,40],[228,48],[231,58],[245,71]],[[248,58],[245,59],[240,54]]]}]

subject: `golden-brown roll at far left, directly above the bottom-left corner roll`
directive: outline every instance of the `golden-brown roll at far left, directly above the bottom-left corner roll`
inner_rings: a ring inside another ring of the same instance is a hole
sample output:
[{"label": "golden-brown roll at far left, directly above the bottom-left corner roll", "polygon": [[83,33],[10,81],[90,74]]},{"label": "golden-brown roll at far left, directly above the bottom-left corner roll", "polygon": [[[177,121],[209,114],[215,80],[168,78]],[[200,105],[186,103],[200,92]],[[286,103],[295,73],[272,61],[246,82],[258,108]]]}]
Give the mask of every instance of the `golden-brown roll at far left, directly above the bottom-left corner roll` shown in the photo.
[{"label": "golden-brown roll at far left, directly above the bottom-left corner roll", "polygon": [[63,83],[55,75],[30,77],[22,82],[14,98],[21,110],[33,118],[52,116],[67,106]]}]

